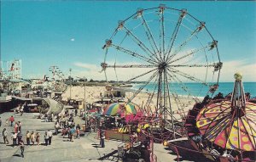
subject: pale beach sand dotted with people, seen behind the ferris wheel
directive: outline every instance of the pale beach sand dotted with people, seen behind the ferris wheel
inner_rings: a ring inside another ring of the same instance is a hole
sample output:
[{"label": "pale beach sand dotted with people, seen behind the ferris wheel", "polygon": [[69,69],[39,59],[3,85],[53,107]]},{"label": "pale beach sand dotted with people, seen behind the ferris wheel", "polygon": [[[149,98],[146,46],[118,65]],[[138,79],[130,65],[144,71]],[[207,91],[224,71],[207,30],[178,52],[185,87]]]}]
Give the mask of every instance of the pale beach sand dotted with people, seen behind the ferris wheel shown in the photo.
[{"label": "pale beach sand dotted with people, seen behind the ferris wheel", "polygon": [[[94,103],[98,100],[100,100],[100,93],[104,94],[106,91],[105,87],[102,86],[92,86],[92,87],[85,87],[85,101],[86,103]],[[70,95],[71,94],[71,95]],[[128,100],[128,98],[131,98],[134,92],[126,92],[125,93],[125,101]],[[142,107],[145,111],[148,111],[150,113],[154,113],[155,106],[157,103],[156,94],[154,94],[154,98],[152,99],[151,103],[149,103],[149,106],[147,105],[145,107],[145,104],[148,101],[148,96],[151,95],[150,92],[140,92],[137,94],[136,98],[133,98],[131,101],[132,103],[136,103],[138,106]],[[84,87],[71,87],[71,93],[70,93],[70,87],[67,87],[67,91],[62,94],[63,100],[66,100],[68,98],[72,99],[84,99]],[[175,116],[177,120],[181,120],[181,115],[187,115],[187,112],[189,109],[193,108],[193,105],[195,104],[195,100],[192,97],[188,96],[177,96],[173,95],[171,96],[171,107],[172,107],[172,113]],[[201,99],[201,98],[199,98]],[[169,104],[169,103],[167,103]]]}]

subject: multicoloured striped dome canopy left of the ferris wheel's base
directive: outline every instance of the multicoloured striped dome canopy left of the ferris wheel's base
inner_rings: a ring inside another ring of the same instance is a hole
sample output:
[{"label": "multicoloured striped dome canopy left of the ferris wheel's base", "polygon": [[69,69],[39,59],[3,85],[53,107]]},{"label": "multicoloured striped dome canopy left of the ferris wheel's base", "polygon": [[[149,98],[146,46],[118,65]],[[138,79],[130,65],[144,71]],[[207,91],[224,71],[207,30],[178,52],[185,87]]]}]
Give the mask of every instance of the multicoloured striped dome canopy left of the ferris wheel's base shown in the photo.
[{"label": "multicoloured striped dome canopy left of the ferris wheel's base", "polygon": [[108,104],[103,112],[103,115],[117,115],[125,112],[126,115],[136,115],[136,108],[134,104],[131,103],[111,103]]}]

